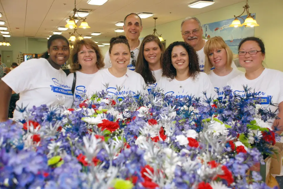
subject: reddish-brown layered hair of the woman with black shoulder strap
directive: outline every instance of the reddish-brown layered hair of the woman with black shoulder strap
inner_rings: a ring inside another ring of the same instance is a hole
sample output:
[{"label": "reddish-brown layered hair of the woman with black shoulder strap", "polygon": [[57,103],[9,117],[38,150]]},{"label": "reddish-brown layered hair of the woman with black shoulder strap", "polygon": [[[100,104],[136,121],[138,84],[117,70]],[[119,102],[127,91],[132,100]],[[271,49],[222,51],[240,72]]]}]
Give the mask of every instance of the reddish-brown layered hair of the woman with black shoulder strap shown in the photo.
[{"label": "reddish-brown layered hair of the woman with black shoulder strap", "polygon": [[77,70],[80,70],[81,64],[79,64],[78,62],[78,52],[81,50],[81,47],[83,45],[86,45],[87,48],[93,49],[96,53],[96,65],[98,69],[101,69],[105,66],[104,62],[103,62],[103,56],[102,53],[98,47],[98,45],[91,39],[83,39],[83,40],[76,40],[74,43],[74,48],[71,52],[71,73],[76,72]]}]

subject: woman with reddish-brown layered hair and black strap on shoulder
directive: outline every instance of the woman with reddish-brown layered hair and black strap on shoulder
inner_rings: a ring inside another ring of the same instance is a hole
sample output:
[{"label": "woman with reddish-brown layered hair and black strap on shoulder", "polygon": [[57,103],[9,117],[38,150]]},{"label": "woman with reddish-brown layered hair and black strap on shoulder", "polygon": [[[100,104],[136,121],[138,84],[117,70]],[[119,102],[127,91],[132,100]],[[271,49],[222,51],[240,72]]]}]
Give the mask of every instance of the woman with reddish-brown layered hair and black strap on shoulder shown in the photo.
[{"label": "woman with reddish-brown layered hair and black strap on shoulder", "polygon": [[98,45],[91,39],[76,40],[71,52],[71,74],[68,82],[72,85],[74,98],[82,99],[94,74],[104,67]]}]

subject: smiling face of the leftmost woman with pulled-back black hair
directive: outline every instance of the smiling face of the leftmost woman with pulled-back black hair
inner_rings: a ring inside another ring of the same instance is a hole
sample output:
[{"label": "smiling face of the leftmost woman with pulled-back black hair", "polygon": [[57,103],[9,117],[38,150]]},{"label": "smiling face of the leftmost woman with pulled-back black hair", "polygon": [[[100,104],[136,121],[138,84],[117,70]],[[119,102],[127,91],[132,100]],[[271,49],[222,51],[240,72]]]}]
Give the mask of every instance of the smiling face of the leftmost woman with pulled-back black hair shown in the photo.
[{"label": "smiling face of the leftmost woman with pulled-back black hair", "polygon": [[49,58],[57,65],[62,66],[70,57],[70,49],[63,39],[55,39],[48,49]]}]

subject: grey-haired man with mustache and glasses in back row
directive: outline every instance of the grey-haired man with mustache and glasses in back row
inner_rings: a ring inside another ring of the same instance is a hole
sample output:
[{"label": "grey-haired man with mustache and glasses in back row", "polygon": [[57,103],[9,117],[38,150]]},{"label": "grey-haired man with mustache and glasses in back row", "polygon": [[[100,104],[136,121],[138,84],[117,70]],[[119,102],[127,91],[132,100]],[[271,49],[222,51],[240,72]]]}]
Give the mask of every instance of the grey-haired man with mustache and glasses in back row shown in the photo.
[{"label": "grey-haired man with mustache and glasses in back row", "polygon": [[[187,17],[181,24],[182,38],[184,42],[190,44],[199,57],[200,71],[204,71],[205,53],[203,51],[207,39],[202,39],[203,31],[199,19],[196,17]],[[231,64],[232,68],[237,69],[234,62]]]}]

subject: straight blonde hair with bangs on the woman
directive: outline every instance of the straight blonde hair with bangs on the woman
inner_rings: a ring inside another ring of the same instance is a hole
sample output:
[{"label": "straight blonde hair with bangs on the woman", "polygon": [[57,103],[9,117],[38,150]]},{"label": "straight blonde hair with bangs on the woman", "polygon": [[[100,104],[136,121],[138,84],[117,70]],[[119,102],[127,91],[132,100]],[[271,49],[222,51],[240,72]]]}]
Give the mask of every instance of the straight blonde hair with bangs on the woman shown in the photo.
[{"label": "straight blonde hair with bangs on the woman", "polygon": [[225,43],[225,41],[222,39],[222,37],[216,36],[208,39],[208,41],[205,43],[204,46],[204,53],[205,53],[205,73],[209,73],[210,69],[213,67],[212,63],[210,62],[210,59],[208,55],[216,50],[216,49],[225,49],[226,54],[227,54],[227,67],[231,67],[232,60],[233,60],[233,52],[231,49],[228,47],[228,45]]}]

